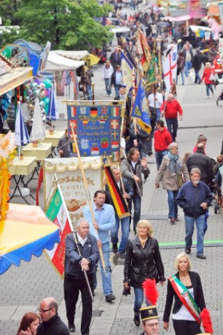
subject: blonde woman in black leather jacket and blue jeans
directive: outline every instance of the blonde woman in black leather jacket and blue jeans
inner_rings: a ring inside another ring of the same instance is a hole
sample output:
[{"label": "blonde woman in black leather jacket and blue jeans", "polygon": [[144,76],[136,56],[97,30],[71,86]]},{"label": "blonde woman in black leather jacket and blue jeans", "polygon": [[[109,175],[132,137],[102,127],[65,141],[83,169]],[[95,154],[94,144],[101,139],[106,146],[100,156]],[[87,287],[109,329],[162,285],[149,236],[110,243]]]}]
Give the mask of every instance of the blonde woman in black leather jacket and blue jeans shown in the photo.
[{"label": "blonde woman in black leather jacket and blue jeans", "polygon": [[[147,220],[137,223],[137,236],[128,241],[124,267],[124,286],[134,288],[134,324],[140,325],[139,308],[144,301],[141,284],[146,278],[155,278],[164,285],[164,266],[157,239],[152,237],[153,227]],[[150,305],[150,301],[146,301]]]}]

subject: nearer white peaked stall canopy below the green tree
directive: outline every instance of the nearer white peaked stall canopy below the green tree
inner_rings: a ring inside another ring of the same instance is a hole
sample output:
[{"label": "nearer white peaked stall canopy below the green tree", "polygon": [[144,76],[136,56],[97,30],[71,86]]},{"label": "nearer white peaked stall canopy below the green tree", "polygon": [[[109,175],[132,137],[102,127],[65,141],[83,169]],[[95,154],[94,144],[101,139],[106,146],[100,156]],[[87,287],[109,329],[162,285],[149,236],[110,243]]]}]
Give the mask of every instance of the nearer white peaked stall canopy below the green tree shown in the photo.
[{"label": "nearer white peaked stall canopy below the green tree", "polygon": [[66,57],[62,57],[56,51],[49,51],[45,72],[59,72],[63,70],[71,70],[84,65],[84,61],[74,61]]}]

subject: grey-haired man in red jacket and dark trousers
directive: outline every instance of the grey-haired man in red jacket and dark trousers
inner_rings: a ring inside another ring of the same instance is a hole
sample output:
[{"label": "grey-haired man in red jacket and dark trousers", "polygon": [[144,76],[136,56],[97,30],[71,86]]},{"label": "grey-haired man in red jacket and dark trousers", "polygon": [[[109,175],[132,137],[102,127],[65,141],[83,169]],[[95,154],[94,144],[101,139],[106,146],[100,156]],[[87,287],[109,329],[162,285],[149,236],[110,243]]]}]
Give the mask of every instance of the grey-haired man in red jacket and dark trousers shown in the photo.
[{"label": "grey-haired man in red jacket and dark trousers", "polygon": [[161,116],[165,117],[167,122],[167,129],[171,133],[173,142],[176,142],[176,135],[178,130],[178,114],[180,121],[183,119],[183,110],[178,101],[174,100],[173,94],[168,94],[167,100],[162,103],[160,107]]}]

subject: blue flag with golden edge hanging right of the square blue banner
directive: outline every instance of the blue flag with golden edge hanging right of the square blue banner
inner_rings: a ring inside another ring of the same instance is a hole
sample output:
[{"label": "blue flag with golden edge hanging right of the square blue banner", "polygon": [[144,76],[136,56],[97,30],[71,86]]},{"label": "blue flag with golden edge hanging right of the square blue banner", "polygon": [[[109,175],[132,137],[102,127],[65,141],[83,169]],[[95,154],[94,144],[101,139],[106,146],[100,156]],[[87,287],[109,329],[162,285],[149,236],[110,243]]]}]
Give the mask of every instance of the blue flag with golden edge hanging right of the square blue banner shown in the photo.
[{"label": "blue flag with golden edge hanging right of the square blue banner", "polygon": [[146,133],[150,134],[151,120],[149,118],[148,105],[146,102],[146,96],[144,87],[142,86],[141,80],[139,82],[139,87],[137,90],[137,95],[134,99],[134,105],[132,107],[132,115],[131,117],[136,117],[138,119],[139,126],[146,131]]}]

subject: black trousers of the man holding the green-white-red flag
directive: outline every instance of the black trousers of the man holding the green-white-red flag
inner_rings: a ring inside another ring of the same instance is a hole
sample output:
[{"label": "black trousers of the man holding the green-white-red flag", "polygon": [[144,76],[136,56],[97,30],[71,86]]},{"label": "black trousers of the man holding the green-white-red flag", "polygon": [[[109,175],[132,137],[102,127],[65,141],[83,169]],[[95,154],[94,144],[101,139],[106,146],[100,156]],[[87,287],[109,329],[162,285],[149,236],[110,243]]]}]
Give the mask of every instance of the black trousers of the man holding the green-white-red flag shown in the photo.
[{"label": "black trousers of the man holding the green-white-red flag", "polygon": [[[91,290],[93,289],[93,274],[88,276]],[[92,301],[88,285],[85,278],[74,280],[64,278],[64,299],[66,302],[66,311],[68,322],[72,325],[75,321],[76,304],[79,297],[79,291],[82,294],[82,335],[89,334],[89,327],[92,318]]]}]

